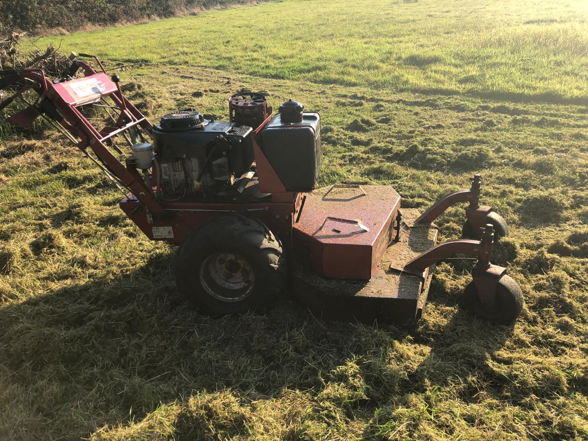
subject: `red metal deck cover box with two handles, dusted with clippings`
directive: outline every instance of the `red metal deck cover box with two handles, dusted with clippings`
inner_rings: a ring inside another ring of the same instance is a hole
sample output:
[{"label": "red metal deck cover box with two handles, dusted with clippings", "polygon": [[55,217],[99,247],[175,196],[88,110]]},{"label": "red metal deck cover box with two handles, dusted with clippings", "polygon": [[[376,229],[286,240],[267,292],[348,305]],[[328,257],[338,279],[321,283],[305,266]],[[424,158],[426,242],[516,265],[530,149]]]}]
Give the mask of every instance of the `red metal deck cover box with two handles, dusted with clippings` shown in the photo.
[{"label": "red metal deck cover box with two handles, dusted with clippings", "polygon": [[398,193],[385,185],[333,185],[305,196],[293,234],[295,247],[308,248],[313,272],[337,279],[372,278],[390,242]]}]

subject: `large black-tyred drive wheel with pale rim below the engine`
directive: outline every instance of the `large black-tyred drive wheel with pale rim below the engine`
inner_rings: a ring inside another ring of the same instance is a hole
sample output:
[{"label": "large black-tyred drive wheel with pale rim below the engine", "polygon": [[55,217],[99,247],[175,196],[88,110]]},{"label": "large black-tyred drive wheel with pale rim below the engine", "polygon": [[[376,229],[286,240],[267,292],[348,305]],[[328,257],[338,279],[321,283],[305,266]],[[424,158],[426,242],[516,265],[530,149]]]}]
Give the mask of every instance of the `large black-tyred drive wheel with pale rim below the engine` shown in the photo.
[{"label": "large black-tyred drive wheel with pale rim below the engine", "polygon": [[211,316],[265,312],[285,285],[282,246],[258,220],[215,216],[183,242],[176,284]]}]

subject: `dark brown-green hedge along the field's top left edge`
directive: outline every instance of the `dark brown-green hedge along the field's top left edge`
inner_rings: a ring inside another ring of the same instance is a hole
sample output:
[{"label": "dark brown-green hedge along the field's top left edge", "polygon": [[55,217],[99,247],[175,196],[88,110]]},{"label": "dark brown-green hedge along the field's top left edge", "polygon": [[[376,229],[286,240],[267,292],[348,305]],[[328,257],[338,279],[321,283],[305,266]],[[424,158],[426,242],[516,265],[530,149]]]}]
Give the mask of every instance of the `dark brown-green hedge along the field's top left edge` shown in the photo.
[{"label": "dark brown-green hedge along the field's top left edge", "polygon": [[198,8],[245,4],[250,0],[0,0],[0,26],[4,29],[62,28],[111,25],[151,16],[169,17]]}]

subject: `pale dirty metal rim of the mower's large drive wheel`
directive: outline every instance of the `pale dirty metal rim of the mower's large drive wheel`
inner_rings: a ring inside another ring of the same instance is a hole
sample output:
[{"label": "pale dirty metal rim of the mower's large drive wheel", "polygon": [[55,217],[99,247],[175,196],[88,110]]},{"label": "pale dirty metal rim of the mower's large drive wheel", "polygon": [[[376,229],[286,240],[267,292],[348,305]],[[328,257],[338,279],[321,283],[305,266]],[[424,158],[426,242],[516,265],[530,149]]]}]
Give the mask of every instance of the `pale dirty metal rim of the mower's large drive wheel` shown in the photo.
[{"label": "pale dirty metal rim of the mower's large drive wheel", "polygon": [[200,266],[202,287],[222,302],[239,302],[253,290],[255,275],[247,260],[233,253],[218,252]]}]

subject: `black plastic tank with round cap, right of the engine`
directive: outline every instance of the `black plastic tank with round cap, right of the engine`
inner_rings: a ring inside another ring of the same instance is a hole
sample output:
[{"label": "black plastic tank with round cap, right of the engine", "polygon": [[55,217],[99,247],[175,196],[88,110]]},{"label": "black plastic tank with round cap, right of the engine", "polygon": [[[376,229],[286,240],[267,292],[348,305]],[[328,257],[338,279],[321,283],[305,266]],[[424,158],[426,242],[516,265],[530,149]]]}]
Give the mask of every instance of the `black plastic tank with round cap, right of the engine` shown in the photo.
[{"label": "black plastic tank with round cap, right of the engine", "polygon": [[320,168],[320,115],[303,108],[299,102],[286,101],[260,132],[263,154],[286,191],[315,188]]}]

